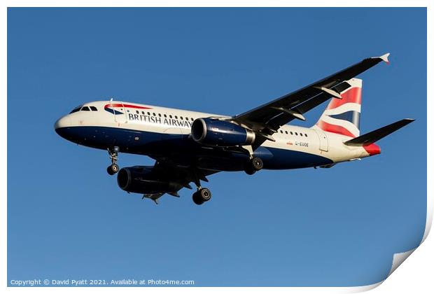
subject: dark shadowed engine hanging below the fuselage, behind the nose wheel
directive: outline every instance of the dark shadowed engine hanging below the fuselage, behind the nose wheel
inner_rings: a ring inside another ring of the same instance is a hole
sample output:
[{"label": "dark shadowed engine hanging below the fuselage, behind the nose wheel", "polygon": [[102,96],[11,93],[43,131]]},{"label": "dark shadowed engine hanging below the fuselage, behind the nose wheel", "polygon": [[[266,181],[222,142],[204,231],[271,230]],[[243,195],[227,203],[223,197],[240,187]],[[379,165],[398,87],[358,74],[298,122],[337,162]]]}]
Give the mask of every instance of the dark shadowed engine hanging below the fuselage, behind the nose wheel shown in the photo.
[{"label": "dark shadowed engine hanging below the fuselage, behind the nose wheel", "polygon": [[182,188],[179,183],[161,179],[153,167],[124,167],[118,172],[118,186],[131,193],[153,194],[176,192]]}]

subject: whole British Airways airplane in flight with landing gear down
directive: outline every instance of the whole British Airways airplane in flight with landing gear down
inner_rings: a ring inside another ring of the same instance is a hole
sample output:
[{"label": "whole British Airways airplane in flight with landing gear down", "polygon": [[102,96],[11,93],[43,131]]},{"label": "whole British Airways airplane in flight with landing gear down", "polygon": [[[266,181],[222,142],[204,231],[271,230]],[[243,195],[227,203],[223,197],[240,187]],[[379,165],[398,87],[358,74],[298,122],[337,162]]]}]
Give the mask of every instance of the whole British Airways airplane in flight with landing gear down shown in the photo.
[{"label": "whole British Airways airplane in flight with landing gear down", "polygon": [[[376,141],[412,123],[405,118],[360,136],[362,80],[358,74],[388,63],[389,53],[342,71],[236,116],[222,116],[130,102],[97,101],[59,118],[55,132],[73,143],[109,152],[110,175],[118,186],[158,204],[162,195],[179,197],[192,189],[195,204],[211,199],[201,185],[217,172],[261,169],[330,168],[339,162],[381,153]],[[288,125],[330,102],[312,127]],[[118,153],[147,155],[153,166],[118,167]]]}]

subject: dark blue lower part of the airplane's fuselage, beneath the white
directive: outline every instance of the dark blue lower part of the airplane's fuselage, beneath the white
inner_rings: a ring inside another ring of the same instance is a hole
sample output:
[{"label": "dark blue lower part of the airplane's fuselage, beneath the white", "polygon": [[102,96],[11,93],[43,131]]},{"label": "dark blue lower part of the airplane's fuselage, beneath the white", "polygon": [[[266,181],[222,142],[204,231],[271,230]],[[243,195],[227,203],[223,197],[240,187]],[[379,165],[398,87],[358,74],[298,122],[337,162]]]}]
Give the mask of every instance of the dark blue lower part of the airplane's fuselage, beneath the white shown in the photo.
[{"label": "dark blue lower part of the airplane's fuselage, beneath the white", "polygon": [[[155,132],[144,132],[129,130],[117,127],[64,127],[56,132],[69,141],[92,148],[104,149],[112,146],[119,146],[120,152],[141,155],[162,156],[185,154],[186,156],[207,156],[212,165],[221,162],[223,170],[228,170],[230,163],[234,167],[230,170],[240,170],[246,158],[239,156],[228,156],[226,153],[219,158],[217,152],[209,148],[202,148],[200,144],[188,139],[188,134],[164,134]],[[297,169],[302,167],[314,167],[328,165],[332,160],[320,155],[291,151],[288,149],[260,146],[255,150],[254,155],[261,158],[265,169]],[[214,162],[212,162],[214,160]],[[226,160],[226,162],[225,162]],[[237,165],[238,163],[238,165]]]}]

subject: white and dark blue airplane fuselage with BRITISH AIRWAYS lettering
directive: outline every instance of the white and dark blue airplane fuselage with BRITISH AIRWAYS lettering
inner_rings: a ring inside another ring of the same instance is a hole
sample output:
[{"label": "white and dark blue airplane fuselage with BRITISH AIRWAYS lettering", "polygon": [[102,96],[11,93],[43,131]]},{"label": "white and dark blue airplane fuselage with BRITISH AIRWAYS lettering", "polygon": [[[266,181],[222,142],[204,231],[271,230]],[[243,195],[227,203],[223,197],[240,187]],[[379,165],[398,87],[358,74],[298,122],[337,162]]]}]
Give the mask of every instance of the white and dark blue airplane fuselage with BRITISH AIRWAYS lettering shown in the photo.
[{"label": "white and dark blue airplane fuselage with BRITISH AIRWAYS lettering", "polygon": [[[87,107],[88,110],[83,110]],[[56,132],[69,141],[92,148],[118,146],[121,153],[148,155],[216,171],[241,171],[248,158],[244,148],[214,148],[194,141],[191,126],[197,118],[224,118],[200,113],[130,102],[99,101],[83,104],[55,123]],[[296,169],[330,166],[378,154],[357,146],[346,146],[351,137],[324,132],[318,127],[283,125],[253,156],[264,169]],[[248,148],[247,148],[248,150]]]}]

